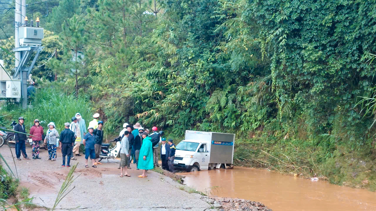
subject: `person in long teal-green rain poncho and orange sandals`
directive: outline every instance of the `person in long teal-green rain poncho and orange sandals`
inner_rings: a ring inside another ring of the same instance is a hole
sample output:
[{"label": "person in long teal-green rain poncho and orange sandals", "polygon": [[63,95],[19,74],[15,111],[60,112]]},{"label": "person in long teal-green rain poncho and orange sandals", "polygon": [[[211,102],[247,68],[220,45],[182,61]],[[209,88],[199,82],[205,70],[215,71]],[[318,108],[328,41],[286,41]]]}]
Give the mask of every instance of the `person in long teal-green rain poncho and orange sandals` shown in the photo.
[{"label": "person in long teal-green rain poncho and orange sandals", "polygon": [[147,137],[146,132],[142,134],[142,137],[144,139],[138,157],[138,168],[143,169],[143,172],[138,177],[147,177],[147,170],[153,169],[152,139]]}]

